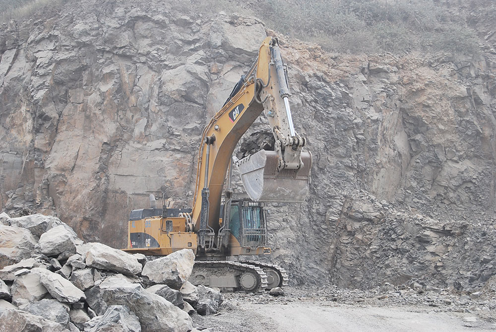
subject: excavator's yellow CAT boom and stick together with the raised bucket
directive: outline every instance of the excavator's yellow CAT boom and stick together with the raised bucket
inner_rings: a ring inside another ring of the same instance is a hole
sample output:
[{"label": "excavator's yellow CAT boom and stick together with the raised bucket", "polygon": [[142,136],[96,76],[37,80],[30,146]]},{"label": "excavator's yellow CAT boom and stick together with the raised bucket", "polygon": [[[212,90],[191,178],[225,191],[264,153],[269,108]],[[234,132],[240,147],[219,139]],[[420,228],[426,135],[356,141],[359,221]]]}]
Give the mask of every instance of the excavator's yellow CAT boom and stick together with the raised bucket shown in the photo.
[{"label": "excavator's yellow CAT boom and stick together with the raised bucket", "polygon": [[267,37],[255,63],[202,133],[192,209],[192,227],[200,247],[205,246],[205,234],[219,231],[222,191],[231,156],[262,112],[276,139],[275,151],[262,150],[237,162],[248,195],[254,200],[305,199],[311,155],[302,152],[306,141],[295,132],[288,98],[277,39]]}]

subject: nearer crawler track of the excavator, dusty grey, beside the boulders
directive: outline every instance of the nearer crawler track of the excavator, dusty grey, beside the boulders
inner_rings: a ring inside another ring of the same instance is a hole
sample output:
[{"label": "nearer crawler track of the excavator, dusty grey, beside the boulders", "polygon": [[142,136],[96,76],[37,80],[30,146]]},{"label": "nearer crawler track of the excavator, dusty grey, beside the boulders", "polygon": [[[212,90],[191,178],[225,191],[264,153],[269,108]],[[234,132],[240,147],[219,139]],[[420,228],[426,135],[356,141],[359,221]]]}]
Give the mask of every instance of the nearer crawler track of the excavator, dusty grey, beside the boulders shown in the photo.
[{"label": "nearer crawler track of the excavator, dusty grey, beside the boulders", "polygon": [[263,292],[268,286],[262,267],[232,261],[195,261],[189,282],[250,293]]}]

